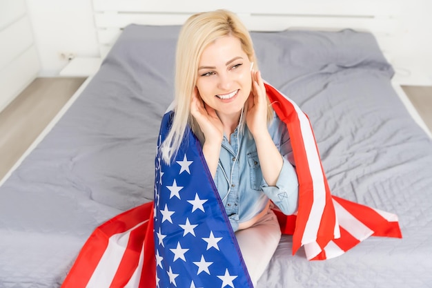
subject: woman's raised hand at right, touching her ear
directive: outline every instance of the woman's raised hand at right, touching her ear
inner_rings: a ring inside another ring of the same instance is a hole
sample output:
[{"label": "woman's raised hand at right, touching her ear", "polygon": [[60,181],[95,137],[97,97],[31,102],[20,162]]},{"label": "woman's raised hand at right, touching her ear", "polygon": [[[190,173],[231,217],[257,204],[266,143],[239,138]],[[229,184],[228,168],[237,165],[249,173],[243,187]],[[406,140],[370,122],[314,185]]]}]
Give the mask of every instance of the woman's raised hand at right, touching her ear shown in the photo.
[{"label": "woman's raised hand at right, touching her ear", "polygon": [[248,113],[246,124],[254,138],[267,130],[267,94],[261,73],[252,70],[252,89],[248,97]]}]

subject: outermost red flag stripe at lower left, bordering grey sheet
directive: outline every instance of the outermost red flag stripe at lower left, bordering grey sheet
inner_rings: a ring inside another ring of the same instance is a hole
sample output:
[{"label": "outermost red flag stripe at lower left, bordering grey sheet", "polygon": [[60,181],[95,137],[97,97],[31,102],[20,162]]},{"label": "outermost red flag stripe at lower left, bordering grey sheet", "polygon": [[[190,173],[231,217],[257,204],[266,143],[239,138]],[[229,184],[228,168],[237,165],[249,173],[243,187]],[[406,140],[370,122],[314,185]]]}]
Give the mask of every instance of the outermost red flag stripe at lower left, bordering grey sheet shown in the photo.
[{"label": "outermost red flag stripe at lower left, bordering grey sheet", "polygon": [[150,212],[153,212],[153,202],[125,211],[97,227],[79,252],[77,260],[75,260],[61,288],[86,287],[93,271],[104,255],[106,247],[108,247],[109,238],[117,233],[132,229],[142,220],[147,220],[146,216]]}]

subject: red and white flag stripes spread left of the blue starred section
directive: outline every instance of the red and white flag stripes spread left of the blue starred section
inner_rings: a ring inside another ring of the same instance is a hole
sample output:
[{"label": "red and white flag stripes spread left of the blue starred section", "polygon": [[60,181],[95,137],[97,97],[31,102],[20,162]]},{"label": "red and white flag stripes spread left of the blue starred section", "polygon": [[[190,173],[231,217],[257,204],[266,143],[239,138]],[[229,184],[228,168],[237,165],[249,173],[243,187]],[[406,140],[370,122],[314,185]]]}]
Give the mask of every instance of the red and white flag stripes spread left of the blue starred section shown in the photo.
[{"label": "red and white flag stripes spread left of the blue starred section", "polygon": [[[139,266],[146,230],[153,227],[153,223],[149,225],[153,219],[148,217],[152,212],[153,202],[149,202],[121,213],[95,229],[61,288],[124,287],[115,285],[127,283]],[[151,251],[153,256],[150,258],[154,258],[153,247]],[[141,277],[141,271],[137,276]]]}]

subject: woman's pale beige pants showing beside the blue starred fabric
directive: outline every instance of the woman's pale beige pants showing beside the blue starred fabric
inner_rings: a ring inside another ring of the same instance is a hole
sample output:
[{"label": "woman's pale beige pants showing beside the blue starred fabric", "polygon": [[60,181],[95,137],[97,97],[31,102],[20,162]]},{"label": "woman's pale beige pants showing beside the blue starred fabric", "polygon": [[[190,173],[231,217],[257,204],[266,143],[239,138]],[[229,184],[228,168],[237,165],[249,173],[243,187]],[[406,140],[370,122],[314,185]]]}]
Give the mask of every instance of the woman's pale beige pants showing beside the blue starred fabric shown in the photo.
[{"label": "woman's pale beige pants showing beside the blue starred fabric", "polygon": [[268,212],[251,227],[235,232],[235,237],[253,286],[256,287],[259,277],[264,273],[281,238],[275,213],[268,209]]}]

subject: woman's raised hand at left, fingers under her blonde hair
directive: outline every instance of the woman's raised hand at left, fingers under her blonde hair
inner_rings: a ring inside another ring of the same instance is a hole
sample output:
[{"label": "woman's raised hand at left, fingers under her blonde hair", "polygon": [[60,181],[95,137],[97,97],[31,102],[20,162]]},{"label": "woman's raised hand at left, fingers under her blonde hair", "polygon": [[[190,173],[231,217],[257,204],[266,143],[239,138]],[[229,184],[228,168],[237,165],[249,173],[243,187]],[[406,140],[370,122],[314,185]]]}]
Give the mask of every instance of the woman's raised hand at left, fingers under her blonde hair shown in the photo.
[{"label": "woman's raised hand at left, fingers under her blonde hair", "polygon": [[202,101],[197,87],[193,89],[190,113],[197,120],[207,144],[220,145],[224,137],[224,126],[217,116],[215,109]]}]

